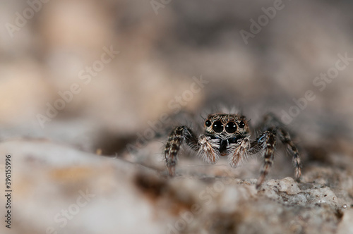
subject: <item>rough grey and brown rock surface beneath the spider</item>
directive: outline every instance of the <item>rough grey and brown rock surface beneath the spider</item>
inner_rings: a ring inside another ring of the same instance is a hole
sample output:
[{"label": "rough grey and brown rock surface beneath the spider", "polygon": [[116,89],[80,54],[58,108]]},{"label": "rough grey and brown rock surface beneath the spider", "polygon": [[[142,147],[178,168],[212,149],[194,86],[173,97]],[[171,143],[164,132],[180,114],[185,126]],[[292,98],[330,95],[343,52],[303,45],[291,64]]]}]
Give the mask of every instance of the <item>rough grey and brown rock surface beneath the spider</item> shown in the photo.
[{"label": "rough grey and brown rock surface beneath the spider", "polygon": [[352,233],[352,172],[334,166],[306,165],[300,183],[269,179],[256,190],[256,179],[239,178],[249,165],[181,159],[167,178],[41,140],[3,142],[0,152],[13,156],[17,233]]}]

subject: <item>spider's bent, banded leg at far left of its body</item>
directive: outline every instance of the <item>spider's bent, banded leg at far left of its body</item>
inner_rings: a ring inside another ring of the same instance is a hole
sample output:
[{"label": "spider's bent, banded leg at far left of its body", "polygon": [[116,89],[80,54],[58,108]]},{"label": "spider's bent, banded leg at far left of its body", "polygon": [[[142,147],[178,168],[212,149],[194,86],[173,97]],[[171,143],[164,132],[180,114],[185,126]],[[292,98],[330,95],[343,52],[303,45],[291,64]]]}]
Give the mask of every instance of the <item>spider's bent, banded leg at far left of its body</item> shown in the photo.
[{"label": "spider's bent, banded leg at far left of its body", "polygon": [[169,176],[175,175],[175,166],[177,165],[177,154],[181,143],[186,142],[192,149],[198,149],[198,140],[186,126],[174,128],[169,136],[167,144],[164,147],[164,158],[167,162]]}]

